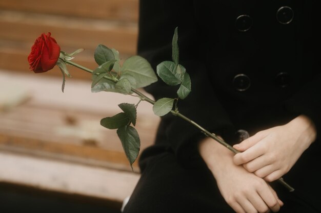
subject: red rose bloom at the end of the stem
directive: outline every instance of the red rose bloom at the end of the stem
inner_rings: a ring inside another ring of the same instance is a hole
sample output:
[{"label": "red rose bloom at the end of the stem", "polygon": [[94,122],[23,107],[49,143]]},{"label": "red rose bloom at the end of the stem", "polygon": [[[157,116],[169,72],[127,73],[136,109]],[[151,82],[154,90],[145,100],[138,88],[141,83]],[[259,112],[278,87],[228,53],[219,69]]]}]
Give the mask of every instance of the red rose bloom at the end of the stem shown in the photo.
[{"label": "red rose bloom at the end of the stem", "polygon": [[35,73],[44,73],[52,69],[59,58],[60,46],[50,35],[51,33],[43,33],[32,45],[28,61],[30,70]]}]

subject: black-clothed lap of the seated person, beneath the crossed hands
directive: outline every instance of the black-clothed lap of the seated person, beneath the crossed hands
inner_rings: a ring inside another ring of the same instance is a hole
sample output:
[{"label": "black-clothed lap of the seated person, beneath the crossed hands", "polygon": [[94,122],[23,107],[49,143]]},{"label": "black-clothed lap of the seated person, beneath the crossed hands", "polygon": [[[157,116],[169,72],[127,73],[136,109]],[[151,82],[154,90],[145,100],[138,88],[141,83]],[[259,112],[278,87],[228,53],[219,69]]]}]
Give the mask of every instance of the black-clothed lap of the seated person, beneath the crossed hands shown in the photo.
[{"label": "black-clothed lap of the seated person, beneath the crossed hands", "polygon": [[[124,209],[125,213],[234,212],[220,195],[205,163],[185,168],[169,151],[154,153],[143,161],[141,179]],[[285,203],[280,213],[318,212],[298,193],[284,190],[277,190],[277,193]]]}]

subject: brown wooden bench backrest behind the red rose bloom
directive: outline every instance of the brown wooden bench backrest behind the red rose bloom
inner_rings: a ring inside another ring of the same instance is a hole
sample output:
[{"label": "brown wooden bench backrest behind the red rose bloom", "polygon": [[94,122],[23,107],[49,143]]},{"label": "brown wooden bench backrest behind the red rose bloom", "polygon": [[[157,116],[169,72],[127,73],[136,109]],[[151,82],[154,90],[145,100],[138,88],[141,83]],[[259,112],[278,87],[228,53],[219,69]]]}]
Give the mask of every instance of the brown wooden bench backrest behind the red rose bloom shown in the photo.
[{"label": "brown wooden bench backrest behind the red rose bloom", "polygon": [[65,52],[86,49],[76,61],[87,67],[95,67],[98,44],[127,58],[136,53],[137,20],[138,0],[1,0],[0,68],[28,71],[26,56],[43,32],[51,32]]}]

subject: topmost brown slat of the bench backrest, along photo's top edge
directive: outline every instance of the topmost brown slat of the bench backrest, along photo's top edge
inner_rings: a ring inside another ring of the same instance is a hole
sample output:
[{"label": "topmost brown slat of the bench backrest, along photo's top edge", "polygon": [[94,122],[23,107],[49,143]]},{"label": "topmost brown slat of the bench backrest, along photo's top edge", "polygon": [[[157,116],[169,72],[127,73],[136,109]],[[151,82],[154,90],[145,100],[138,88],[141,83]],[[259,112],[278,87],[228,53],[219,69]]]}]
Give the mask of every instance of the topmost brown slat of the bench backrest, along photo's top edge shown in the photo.
[{"label": "topmost brown slat of the bench backrest, along photo's top edge", "polygon": [[137,21],[137,0],[1,0],[0,9]]}]

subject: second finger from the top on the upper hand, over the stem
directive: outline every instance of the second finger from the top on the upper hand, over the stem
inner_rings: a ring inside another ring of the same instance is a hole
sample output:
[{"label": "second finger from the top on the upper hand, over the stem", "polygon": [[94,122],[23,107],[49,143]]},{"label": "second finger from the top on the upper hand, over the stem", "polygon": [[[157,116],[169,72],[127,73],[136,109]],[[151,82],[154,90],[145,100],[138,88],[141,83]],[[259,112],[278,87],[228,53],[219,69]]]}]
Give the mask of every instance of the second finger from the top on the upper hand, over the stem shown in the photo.
[{"label": "second finger from the top on the upper hand, over the stem", "polygon": [[233,161],[236,165],[244,164],[254,160],[255,158],[263,155],[265,153],[264,149],[262,148],[261,144],[256,144],[255,146],[249,148],[248,150],[237,153],[233,157]]}]

